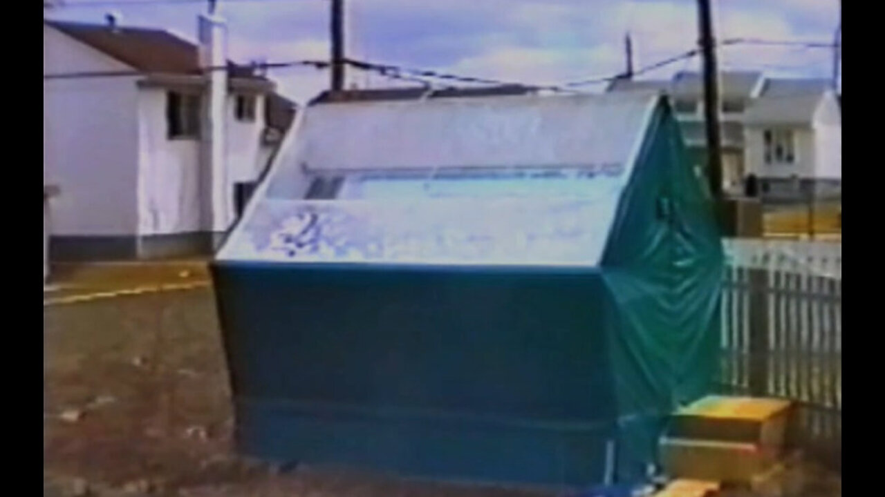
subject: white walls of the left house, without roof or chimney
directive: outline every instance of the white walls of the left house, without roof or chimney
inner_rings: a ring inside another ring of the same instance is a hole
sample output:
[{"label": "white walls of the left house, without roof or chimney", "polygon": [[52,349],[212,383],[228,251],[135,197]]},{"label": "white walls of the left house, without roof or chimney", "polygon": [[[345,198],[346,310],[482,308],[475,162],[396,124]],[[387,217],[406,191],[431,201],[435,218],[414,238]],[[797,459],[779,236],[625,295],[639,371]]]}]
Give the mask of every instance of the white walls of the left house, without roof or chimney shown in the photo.
[{"label": "white walls of the left house, without roof or chimney", "polygon": [[[43,41],[44,74],[134,70],[47,24]],[[212,250],[219,233],[212,233],[212,181],[200,160],[201,141],[169,139],[166,89],[139,80],[44,80],[44,183],[65,192],[51,213],[44,204],[44,256],[127,259]],[[231,202],[236,183],[257,180],[273,150],[261,140],[265,105],[266,96],[258,95],[256,119],[239,122],[235,93],[228,96]]]}]

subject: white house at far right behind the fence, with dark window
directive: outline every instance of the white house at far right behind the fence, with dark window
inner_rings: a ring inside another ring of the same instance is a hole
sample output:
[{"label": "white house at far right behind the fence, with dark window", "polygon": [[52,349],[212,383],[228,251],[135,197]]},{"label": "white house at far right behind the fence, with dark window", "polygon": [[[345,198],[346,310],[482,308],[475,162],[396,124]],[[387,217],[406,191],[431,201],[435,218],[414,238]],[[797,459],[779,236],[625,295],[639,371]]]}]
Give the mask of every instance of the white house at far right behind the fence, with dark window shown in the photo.
[{"label": "white house at far right behind the fence, with dark window", "polygon": [[842,190],[842,110],[832,91],[802,91],[802,82],[772,80],[744,117],[748,174],[762,195],[789,200]]}]

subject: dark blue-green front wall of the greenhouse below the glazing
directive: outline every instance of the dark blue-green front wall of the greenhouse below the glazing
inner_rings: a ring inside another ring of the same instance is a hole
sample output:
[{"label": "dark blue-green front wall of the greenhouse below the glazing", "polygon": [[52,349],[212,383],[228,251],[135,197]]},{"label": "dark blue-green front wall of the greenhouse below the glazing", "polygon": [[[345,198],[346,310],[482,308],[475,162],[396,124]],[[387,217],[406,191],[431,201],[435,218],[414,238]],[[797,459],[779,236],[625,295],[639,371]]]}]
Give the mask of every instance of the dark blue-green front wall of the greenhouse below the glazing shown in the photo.
[{"label": "dark blue-green front wall of the greenhouse below the glazing", "polygon": [[242,452],[602,480],[616,413],[596,271],[227,262],[213,277]]}]

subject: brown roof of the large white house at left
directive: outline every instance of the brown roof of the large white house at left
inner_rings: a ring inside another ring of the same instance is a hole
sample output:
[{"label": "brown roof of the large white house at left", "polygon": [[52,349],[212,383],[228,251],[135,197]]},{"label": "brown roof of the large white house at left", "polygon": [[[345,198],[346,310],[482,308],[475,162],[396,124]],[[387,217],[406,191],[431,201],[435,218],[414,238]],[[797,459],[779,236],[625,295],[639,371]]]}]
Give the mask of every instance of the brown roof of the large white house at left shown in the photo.
[{"label": "brown roof of the large white house at left", "polygon": [[[88,24],[43,19],[43,22],[125,65],[143,73],[198,75],[202,71],[196,44],[163,29],[146,27],[110,28]],[[249,66],[228,62],[231,78],[264,80]]]}]

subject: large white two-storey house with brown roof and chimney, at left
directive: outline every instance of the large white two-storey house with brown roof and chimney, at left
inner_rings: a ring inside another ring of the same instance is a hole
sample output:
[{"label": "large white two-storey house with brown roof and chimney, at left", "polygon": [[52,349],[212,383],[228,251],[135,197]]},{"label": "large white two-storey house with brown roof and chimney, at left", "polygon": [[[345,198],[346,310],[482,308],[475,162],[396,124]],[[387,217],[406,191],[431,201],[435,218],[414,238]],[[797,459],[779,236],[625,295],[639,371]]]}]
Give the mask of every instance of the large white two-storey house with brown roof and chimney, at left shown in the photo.
[{"label": "large white two-storey house with brown roof and chimney, at left", "polygon": [[112,17],[44,19],[44,183],[63,192],[53,258],[204,252],[231,226],[294,104],[227,62],[225,37],[208,16],[199,45]]}]

